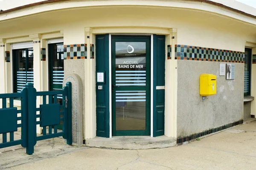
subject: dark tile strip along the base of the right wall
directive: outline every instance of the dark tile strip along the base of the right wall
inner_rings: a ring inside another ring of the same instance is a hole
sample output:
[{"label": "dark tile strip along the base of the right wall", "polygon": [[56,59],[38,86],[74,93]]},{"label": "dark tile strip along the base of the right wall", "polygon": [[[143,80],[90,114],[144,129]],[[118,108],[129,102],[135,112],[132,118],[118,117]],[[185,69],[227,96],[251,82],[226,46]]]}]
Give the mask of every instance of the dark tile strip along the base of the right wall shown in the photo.
[{"label": "dark tile strip along the base of the right wall", "polygon": [[240,125],[240,124],[243,124],[243,123],[244,123],[243,120],[239,120],[237,122],[229,123],[227,125],[212,128],[210,130],[205,130],[204,132],[201,132],[201,133],[196,133],[196,134],[186,136],[186,137],[183,137],[183,138],[178,138],[177,139],[177,144],[181,144],[183,142],[188,142],[188,141],[191,141],[193,139],[197,139],[201,136],[209,135],[211,133],[215,133],[215,132],[218,132],[218,131],[221,131],[221,130],[224,130],[224,129],[227,129],[227,128],[230,128],[230,127],[233,127],[233,126],[237,126],[237,125]]}]

